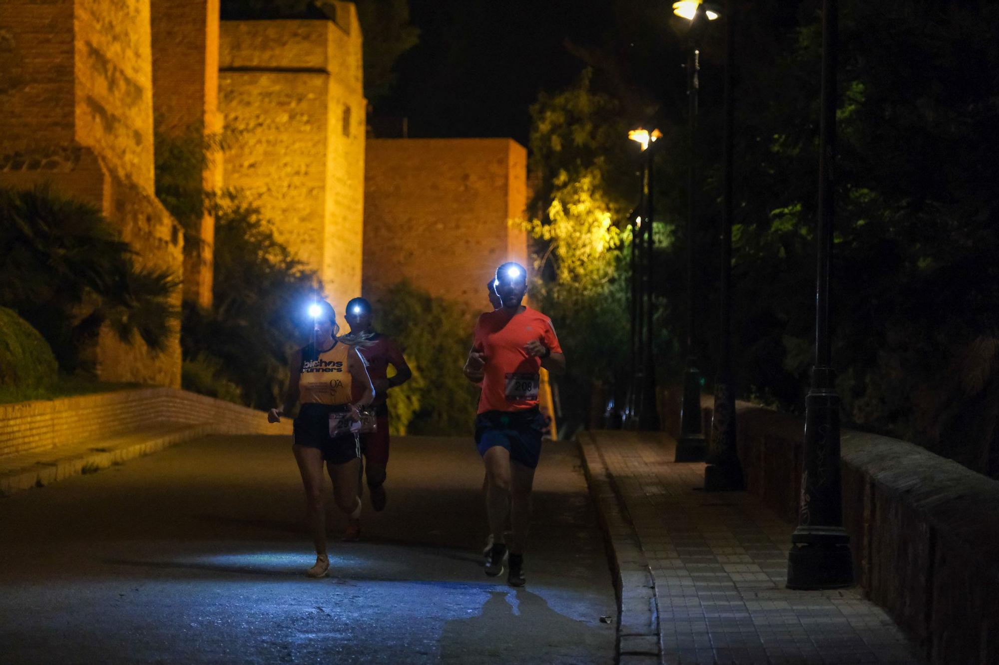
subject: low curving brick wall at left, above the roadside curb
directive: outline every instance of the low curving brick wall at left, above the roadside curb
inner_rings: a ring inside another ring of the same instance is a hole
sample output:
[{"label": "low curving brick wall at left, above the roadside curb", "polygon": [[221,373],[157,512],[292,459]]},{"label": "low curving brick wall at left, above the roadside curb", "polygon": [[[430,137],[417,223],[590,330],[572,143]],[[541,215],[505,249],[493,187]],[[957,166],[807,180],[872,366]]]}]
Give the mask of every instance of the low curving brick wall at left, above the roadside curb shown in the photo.
[{"label": "low curving brick wall at left, above the roadside curb", "polygon": [[185,390],[152,387],[0,404],[0,455],[48,450],[169,423],[207,423],[213,431],[229,434],[291,432],[290,422],[269,424],[262,411]]}]

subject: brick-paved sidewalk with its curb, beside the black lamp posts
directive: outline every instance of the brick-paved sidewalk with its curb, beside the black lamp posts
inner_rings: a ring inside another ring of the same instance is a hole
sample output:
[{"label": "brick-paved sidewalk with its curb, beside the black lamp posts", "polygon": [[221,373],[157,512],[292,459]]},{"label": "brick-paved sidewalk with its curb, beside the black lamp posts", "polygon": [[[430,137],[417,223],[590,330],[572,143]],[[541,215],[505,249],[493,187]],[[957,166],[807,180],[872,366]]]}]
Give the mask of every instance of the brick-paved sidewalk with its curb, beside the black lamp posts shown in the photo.
[{"label": "brick-paved sidewalk with its curb, beside the black lamp posts", "polygon": [[[793,525],[746,492],[699,490],[704,465],[673,463],[665,434],[586,432],[580,447],[620,571],[621,665],[920,662],[858,587],[785,589]],[[628,618],[649,596],[657,645]]]}]

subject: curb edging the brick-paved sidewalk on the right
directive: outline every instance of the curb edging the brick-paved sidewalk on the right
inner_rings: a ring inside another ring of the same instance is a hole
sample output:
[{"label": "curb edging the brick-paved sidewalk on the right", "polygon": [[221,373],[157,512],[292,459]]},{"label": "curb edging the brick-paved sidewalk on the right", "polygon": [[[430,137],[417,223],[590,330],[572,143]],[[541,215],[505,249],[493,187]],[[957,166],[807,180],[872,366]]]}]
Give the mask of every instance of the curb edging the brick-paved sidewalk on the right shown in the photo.
[{"label": "curb edging the brick-paved sidewalk on the right", "polygon": [[581,432],[576,442],[589,492],[596,502],[606,536],[607,558],[614,575],[618,609],[616,662],[619,665],[658,664],[662,637],[655,578],[599,449],[586,432]]}]

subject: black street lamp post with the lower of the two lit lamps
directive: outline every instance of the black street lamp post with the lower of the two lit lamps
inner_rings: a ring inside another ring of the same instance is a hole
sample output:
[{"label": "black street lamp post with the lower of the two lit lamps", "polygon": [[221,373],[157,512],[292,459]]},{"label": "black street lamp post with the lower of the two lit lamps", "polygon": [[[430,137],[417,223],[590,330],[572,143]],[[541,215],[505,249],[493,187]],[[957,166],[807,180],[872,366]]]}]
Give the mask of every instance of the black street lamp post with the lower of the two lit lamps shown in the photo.
[{"label": "black street lamp post with the lower of the two lit lamps", "polygon": [[[634,296],[634,330],[637,331],[636,343],[632,354],[634,363],[632,398],[629,400],[630,424],[632,428],[655,430],[659,428],[659,415],[655,404],[655,370],[652,357],[652,218],[654,215],[652,199],[652,160],[651,144],[662,137],[658,130],[649,133],[638,128],[628,132],[628,138],[641,146],[642,179],[641,179],[641,214],[635,218],[636,235],[632,237],[632,252],[637,252],[637,259],[632,260],[632,280],[637,287],[632,286]],[[644,245],[644,248],[642,248]],[[643,250],[643,251],[642,251]],[[644,263],[641,259],[644,255]],[[634,254],[632,255],[635,256]]]}]

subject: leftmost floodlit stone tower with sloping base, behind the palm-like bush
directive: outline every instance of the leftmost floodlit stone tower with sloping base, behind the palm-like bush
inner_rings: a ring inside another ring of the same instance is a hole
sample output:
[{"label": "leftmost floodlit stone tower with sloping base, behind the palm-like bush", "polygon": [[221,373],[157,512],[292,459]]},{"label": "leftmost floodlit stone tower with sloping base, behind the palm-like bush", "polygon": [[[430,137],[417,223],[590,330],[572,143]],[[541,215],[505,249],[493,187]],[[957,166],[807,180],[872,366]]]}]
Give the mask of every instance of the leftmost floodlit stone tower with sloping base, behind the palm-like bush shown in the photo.
[{"label": "leftmost floodlit stone tower with sloping base, behind the palm-like bush", "polygon": [[[0,185],[42,182],[181,276],[183,234],[154,195],[149,0],[0,2]],[[107,330],[91,352],[101,378],[180,384],[176,331],[159,354]]]}]

